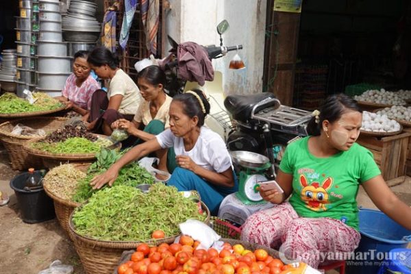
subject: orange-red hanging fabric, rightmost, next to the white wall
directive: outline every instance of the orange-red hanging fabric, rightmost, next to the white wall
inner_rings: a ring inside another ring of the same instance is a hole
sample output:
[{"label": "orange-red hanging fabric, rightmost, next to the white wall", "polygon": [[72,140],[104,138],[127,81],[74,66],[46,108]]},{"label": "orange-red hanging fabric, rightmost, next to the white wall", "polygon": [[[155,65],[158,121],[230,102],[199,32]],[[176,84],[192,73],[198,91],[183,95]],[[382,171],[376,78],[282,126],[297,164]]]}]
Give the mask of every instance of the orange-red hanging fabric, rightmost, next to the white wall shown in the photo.
[{"label": "orange-red hanging fabric, rightmost, next to the white wall", "polygon": [[160,23],[160,0],[141,0],[142,23],[145,27],[147,49],[157,54],[157,33]]}]

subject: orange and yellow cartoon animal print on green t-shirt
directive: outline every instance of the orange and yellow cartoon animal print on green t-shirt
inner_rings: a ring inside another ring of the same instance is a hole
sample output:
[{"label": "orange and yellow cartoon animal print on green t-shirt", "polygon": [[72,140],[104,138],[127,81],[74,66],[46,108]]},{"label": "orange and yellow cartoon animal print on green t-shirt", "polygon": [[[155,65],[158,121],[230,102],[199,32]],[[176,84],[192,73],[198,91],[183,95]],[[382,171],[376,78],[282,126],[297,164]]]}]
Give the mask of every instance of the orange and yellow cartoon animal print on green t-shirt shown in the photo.
[{"label": "orange and yellow cartoon animal print on green t-shirt", "polygon": [[301,200],[306,203],[306,207],[314,211],[327,210],[327,208],[325,208],[329,197],[327,190],[332,186],[332,177],[325,178],[321,186],[319,182],[312,182],[312,184],[309,185],[306,175],[303,174],[300,175],[299,181],[301,186],[303,186],[301,190]]}]

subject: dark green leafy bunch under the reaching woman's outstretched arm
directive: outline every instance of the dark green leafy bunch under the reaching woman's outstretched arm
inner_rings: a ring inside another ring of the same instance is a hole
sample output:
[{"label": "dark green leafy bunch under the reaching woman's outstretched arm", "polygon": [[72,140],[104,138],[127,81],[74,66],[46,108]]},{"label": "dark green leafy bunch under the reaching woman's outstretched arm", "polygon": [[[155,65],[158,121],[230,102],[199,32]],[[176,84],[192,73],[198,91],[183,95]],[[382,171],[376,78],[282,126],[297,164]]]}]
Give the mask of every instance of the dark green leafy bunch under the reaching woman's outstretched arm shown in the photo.
[{"label": "dark green leafy bunch under the reaching woman's outstretched arm", "polygon": [[[121,158],[124,152],[118,153],[114,150],[103,148],[99,153],[96,154],[97,161],[92,163],[90,168],[88,168],[87,176],[84,179],[79,180],[77,185],[77,191],[75,195],[73,195],[73,201],[77,203],[83,203],[94,192],[97,190],[93,190],[90,186],[90,181],[96,175],[107,171],[107,169]],[[145,168],[140,166],[137,162],[132,162],[131,164],[127,164],[124,166],[123,169],[119,172],[119,177],[117,177],[116,181],[114,182],[113,186],[138,186],[139,184],[154,184],[155,179],[154,177],[147,172]],[[106,187],[107,185],[103,186]]]}]

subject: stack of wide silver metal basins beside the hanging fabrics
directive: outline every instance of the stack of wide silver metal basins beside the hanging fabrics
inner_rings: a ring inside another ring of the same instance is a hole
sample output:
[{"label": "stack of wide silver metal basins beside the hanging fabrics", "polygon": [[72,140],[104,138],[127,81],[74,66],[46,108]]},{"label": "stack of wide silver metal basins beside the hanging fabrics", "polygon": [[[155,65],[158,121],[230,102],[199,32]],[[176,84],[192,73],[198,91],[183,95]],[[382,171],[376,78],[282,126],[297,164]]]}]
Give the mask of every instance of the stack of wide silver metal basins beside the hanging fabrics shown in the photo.
[{"label": "stack of wide silver metal basins beside the hanging fabrics", "polygon": [[71,0],[67,15],[62,21],[64,40],[96,42],[101,31],[100,23],[95,18],[96,9],[96,3]]}]

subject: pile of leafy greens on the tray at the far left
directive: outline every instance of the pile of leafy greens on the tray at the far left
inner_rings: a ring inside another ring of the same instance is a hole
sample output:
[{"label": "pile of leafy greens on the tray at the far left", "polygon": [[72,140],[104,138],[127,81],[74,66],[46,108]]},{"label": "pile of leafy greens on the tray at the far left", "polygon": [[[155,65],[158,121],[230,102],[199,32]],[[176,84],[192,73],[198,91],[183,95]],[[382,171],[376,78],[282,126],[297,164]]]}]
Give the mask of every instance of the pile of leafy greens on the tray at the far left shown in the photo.
[{"label": "pile of leafy greens on the tray at the far left", "polygon": [[37,100],[33,104],[30,104],[29,101],[17,97],[14,93],[7,92],[0,97],[0,113],[14,114],[55,110],[56,108],[61,108],[63,105],[58,100],[42,92],[34,93],[34,98]]}]

